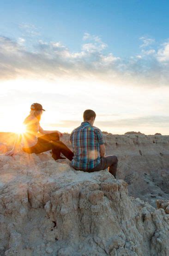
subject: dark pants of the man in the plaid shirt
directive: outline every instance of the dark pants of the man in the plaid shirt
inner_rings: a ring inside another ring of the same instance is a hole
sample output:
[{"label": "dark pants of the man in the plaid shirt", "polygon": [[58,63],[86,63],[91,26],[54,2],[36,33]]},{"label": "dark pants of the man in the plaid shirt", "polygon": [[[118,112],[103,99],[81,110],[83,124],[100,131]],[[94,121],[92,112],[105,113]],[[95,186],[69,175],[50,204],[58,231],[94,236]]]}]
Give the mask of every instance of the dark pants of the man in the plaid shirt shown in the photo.
[{"label": "dark pants of the man in the plaid shirt", "polygon": [[[96,167],[90,170],[80,170],[84,172],[97,172],[101,170],[105,170],[109,167],[109,173],[111,173],[116,178],[116,171],[117,171],[117,163],[118,159],[115,155],[108,155],[100,158],[100,164],[98,164]],[[79,170],[74,168],[75,170]]]}]

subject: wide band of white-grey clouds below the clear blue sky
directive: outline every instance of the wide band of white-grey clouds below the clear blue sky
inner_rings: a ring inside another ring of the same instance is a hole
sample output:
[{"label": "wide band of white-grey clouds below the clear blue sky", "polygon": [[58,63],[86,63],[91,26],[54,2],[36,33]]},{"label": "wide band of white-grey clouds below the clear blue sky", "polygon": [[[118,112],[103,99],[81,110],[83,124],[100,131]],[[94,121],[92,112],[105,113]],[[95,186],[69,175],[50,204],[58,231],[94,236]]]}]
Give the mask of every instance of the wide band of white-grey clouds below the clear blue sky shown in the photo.
[{"label": "wide band of white-grey clouds below the clear blue sky", "polygon": [[[22,29],[36,31],[31,24],[21,24]],[[38,40],[32,50],[26,48],[24,38],[14,41],[0,37],[0,79],[36,78],[53,79],[89,78],[115,84],[159,86],[169,84],[169,44],[155,49],[142,49],[135,57],[119,58],[96,35],[84,33],[81,51],[70,51],[61,42]],[[154,39],[142,38],[144,45]]]}]

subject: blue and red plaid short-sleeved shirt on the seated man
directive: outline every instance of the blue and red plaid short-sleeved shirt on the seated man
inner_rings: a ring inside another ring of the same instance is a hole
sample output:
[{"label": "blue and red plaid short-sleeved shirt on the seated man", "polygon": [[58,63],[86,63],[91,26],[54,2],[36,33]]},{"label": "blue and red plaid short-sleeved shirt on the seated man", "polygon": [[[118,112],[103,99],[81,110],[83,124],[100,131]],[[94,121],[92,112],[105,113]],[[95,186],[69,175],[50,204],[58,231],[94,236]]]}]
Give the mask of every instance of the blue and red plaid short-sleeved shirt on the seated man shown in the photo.
[{"label": "blue and red plaid short-sleeved shirt on the seated man", "polygon": [[100,163],[100,145],[104,144],[103,134],[89,122],[82,122],[70,136],[74,157],[72,167],[90,170]]}]

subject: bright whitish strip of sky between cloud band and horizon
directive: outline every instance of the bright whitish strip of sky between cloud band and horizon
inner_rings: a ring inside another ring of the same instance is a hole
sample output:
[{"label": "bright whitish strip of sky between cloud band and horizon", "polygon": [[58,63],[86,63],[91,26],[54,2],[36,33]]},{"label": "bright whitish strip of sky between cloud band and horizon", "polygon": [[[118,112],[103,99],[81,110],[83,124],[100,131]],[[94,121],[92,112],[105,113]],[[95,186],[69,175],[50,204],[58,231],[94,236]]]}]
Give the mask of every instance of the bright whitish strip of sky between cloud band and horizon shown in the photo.
[{"label": "bright whitish strip of sky between cloud band and horizon", "polygon": [[91,77],[80,81],[16,79],[2,84],[0,132],[22,134],[25,131],[22,123],[29,115],[30,105],[39,102],[46,110],[40,121],[44,130],[71,133],[83,121],[84,110],[93,109],[97,113],[95,125],[103,131],[168,134],[168,122],[164,120],[164,117],[168,120],[169,109],[169,88],[166,86],[143,90],[126,82],[119,85],[93,81]]}]

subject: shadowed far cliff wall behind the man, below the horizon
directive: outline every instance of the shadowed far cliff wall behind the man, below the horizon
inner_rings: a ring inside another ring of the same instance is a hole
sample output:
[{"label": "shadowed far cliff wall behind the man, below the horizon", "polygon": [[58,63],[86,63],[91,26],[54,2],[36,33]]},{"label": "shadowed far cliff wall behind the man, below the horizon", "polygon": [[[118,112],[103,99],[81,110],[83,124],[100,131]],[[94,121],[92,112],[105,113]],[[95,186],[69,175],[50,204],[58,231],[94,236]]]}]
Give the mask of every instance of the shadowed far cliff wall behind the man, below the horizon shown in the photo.
[{"label": "shadowed far cliff wall behind the man, below the horizon", "polygon": [[[169,200],[169,136],[104,134],[106,154],[118,156],[118,179],[128,183],[129,195],[148,201]],[[63,141],[70,145],[69,134]]]}]

